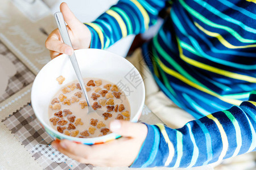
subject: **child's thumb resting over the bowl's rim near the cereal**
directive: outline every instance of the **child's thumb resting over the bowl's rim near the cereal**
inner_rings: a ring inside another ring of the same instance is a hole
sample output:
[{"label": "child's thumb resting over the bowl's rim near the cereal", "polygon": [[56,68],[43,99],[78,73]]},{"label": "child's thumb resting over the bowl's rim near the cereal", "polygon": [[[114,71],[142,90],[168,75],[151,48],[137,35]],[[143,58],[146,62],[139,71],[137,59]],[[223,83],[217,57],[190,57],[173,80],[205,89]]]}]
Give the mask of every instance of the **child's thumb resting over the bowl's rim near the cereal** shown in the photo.
[{"label": "child's thumb resting over the bowl's rim near the cereal", "polygon": [[114,120],[110,123],[110,130],[123,137],[135,137],[139,124],[129,121]]}]

